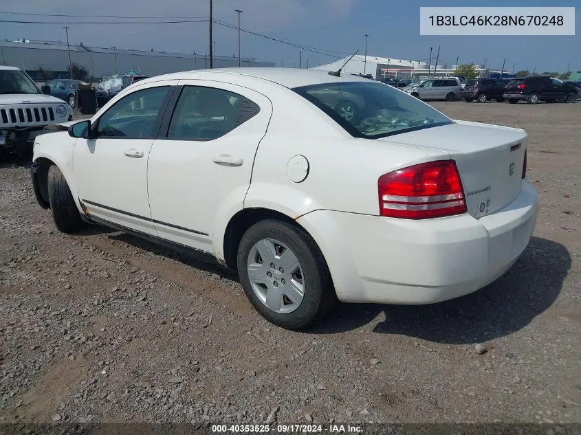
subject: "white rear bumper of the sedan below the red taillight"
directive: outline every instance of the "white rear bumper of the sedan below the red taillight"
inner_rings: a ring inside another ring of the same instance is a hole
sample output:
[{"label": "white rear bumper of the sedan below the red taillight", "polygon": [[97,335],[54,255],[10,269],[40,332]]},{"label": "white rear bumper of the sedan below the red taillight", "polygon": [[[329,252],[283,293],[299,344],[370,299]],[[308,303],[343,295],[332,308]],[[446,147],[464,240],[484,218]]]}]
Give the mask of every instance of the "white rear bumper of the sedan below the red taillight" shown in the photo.
[{"label": "white rear bumper of the sedan below the red taillight", "polygon": [[431,304],[496,280],[523,253],[536,224],[538,195],[493,214],[412,221],[318,210],[297,221],[322,250],[344,302]]}]

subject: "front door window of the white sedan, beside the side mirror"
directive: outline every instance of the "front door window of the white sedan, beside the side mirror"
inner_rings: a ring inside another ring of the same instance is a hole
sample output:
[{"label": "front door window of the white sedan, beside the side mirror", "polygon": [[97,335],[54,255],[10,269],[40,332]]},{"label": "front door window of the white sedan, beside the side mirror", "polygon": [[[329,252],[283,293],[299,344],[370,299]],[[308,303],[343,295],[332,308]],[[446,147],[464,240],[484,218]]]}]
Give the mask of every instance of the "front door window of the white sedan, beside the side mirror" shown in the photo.
[{"label": "front door window of the white sedan, beside the side mirror", "polygon": [[125,96],[98,120],[98,137],[146,138],[157,135],[155,125],[168,86],[142,89]]}]

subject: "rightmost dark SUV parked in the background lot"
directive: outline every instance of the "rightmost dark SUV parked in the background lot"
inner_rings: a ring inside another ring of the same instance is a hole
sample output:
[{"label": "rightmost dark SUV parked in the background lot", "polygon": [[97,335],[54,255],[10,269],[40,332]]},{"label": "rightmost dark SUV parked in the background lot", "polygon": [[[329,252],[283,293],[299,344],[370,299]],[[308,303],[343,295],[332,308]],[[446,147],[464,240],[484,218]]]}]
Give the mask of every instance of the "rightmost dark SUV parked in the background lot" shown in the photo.
[{"label": "rightmost dark SUV parked in the background lot", "polygon": [[504,98],[513,104],[521,100],[529,104],[557,100],[575,102],[577,96],[573,85],[549,76],[514,78],[508,82],[504,93]]}]

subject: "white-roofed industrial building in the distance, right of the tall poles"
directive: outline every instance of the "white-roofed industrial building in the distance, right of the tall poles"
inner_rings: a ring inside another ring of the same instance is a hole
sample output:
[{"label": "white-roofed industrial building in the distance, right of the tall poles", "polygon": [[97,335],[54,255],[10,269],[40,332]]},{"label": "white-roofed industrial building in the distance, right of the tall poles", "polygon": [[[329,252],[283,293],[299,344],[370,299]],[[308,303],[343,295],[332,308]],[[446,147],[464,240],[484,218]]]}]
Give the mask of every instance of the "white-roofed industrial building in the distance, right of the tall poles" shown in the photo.
[{"label": "white-roofed industrial building in the distance, right of the tall poles", "polygon": [[[349,56],[336,60],[333,63],[320,65],[311,69],[321,69],[322,71],[337,71],[343,65]],[[355,55],[343,67],[345,74],[371,74],[376,80],[385,77],[401,79],[421,79],[428,76],[451,76],[456,70],[456,65],[428,65],[420,60],[402,60],[393,58],[382,58],[378,56],[360,56]],[[488,77],[490,74],[500,73],[485,69],[484,65],[476,65],[476,70],[482,77]],[[509,76],[506,71],[503,77]]]}]

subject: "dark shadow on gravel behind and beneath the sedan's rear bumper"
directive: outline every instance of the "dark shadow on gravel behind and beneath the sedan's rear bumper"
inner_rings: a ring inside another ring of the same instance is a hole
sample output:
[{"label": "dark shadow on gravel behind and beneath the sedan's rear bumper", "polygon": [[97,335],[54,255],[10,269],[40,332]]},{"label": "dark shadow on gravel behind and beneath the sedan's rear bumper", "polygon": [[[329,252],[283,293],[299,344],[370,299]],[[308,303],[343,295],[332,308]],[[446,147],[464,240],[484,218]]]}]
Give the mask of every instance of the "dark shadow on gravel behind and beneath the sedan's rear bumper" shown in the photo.
[{"label": "dark shadow on gravel behind and beneath the sedan's rear bumper", "polygon": [[402,334],[443,344],[474,344],[509,335],[555,302],[571,267],[567,248],[533,237],[507,273],[480,291],[431,305],[340,304],[307,333],[351,331],[385,320],[373,332]]}]

